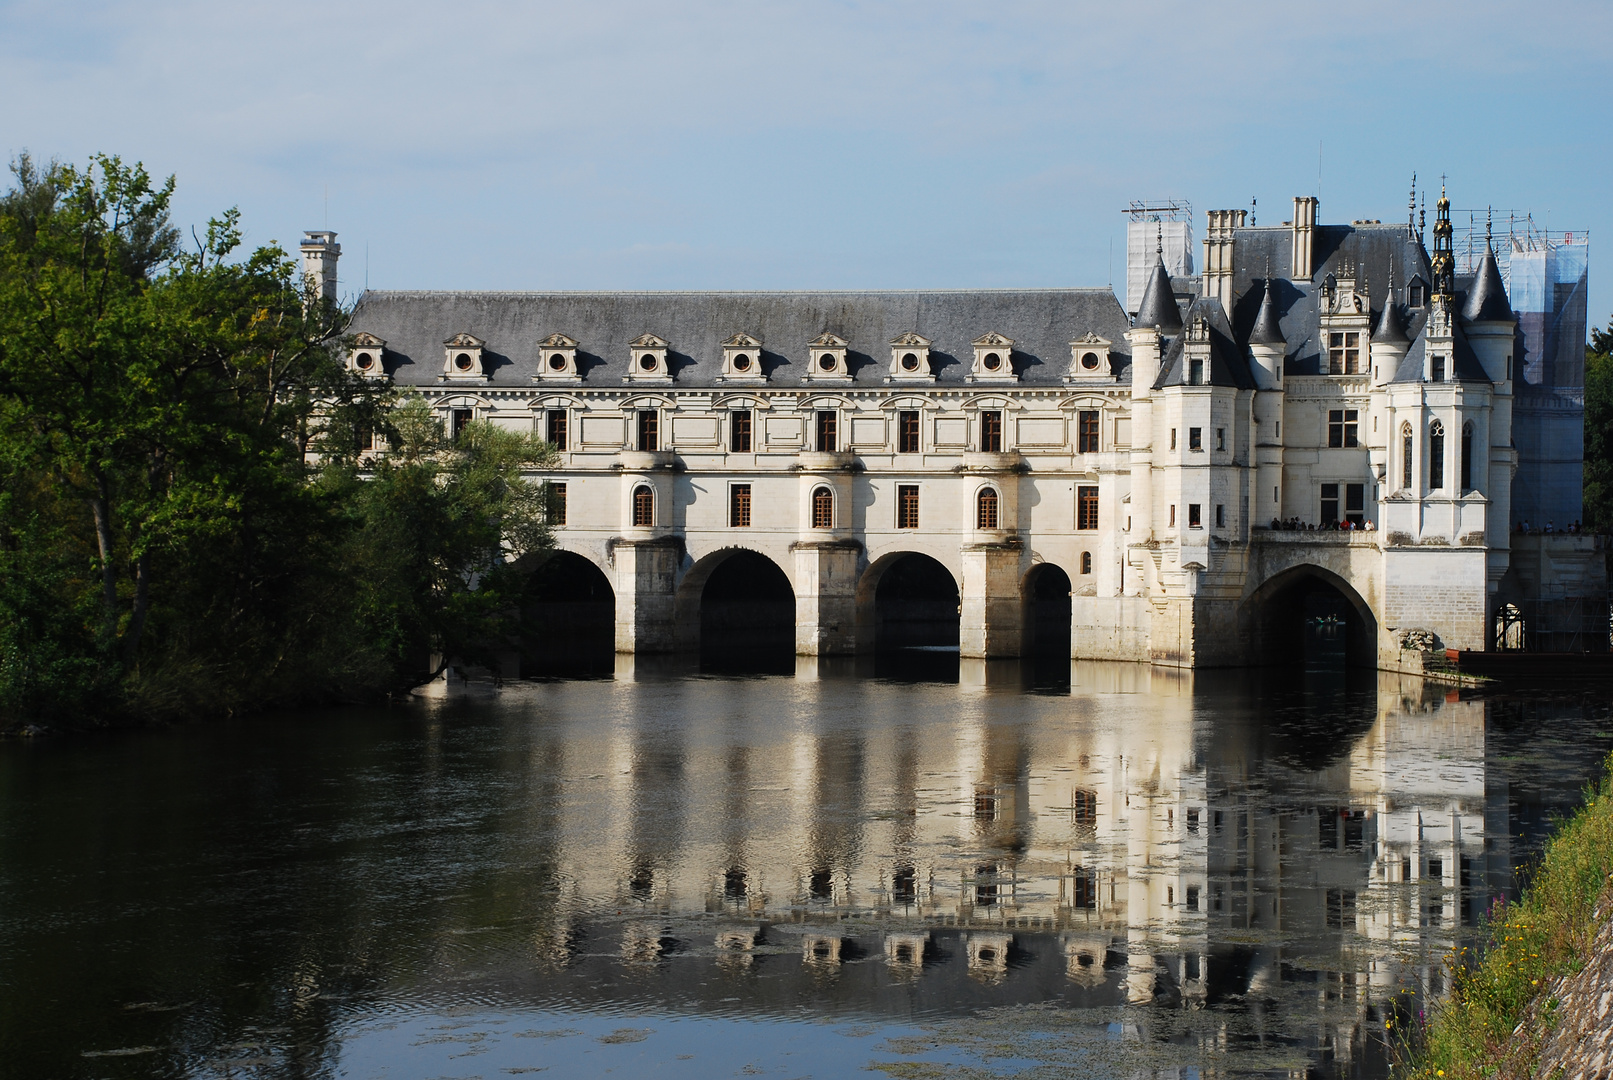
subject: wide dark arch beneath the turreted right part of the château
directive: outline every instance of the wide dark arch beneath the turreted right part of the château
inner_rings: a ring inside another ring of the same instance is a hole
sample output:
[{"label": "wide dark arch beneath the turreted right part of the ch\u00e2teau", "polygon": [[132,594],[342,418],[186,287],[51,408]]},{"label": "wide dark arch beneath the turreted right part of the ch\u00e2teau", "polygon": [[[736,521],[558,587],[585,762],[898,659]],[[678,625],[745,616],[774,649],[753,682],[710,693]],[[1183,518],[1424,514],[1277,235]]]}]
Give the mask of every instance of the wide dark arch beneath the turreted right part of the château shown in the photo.
[{"label": "wide dark arch beneath the turreted right part of the ch\u00e2teau", "polygon": [[1244,603],[1252,654],[1266,663],[1378,666],[1378,617],[1332,571],[1302,563],[1263,582]]}]

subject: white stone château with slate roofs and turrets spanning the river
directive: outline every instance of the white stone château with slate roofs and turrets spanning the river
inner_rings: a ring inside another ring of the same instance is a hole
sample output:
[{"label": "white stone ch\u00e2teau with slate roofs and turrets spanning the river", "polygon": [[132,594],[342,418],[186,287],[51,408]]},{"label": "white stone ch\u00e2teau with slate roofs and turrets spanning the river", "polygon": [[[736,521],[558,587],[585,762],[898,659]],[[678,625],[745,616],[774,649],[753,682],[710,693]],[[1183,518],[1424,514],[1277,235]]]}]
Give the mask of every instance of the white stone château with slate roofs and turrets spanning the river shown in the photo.
[{"label": "white stone ch\u00e2teau with slate roofs and turrets spanning the river", "polygon": [[[561,448],[555,638],[1207,666],[1332,617],[1398,667],[1410,630],[1484,650],[1605,592],[1592,538],[1513,530],[1579,514],[1582,371],[1540,363],[1492,251],[1458,277],[1448,210],[1432,253],[1315,198],[1213,211],[1203,272],[1155,258],[1134,316],[1108,289],[373,292],[350,364]],[[303,251],[334,289],[334,234]]]}]

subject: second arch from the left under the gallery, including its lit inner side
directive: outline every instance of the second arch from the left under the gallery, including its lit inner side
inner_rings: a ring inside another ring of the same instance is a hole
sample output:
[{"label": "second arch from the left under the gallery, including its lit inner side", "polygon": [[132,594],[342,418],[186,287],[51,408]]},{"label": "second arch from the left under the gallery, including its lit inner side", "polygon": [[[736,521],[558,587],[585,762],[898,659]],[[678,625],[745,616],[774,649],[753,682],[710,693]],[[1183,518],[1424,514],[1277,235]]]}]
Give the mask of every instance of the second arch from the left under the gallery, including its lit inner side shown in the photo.
[{"label": "second arch from the left under the gallery, including its lit inner side", "polygon": [[795,588],[777,563],[750,548],[721,548],[677,584],[679,650],[710,671],[794,671]]}]

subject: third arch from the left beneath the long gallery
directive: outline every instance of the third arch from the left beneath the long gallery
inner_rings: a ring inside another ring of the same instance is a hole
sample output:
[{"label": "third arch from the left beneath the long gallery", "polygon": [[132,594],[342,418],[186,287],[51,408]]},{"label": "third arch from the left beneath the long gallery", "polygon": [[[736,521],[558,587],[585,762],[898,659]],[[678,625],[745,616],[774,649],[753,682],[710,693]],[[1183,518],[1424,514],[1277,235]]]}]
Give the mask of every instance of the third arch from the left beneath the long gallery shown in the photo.
[{"label": "third arch from the left beneath the long gallery", "polygon": [[881,653],[957,650],[960,603],[958,579],[936,558],[892,551],[857,585],[857,640]]}]

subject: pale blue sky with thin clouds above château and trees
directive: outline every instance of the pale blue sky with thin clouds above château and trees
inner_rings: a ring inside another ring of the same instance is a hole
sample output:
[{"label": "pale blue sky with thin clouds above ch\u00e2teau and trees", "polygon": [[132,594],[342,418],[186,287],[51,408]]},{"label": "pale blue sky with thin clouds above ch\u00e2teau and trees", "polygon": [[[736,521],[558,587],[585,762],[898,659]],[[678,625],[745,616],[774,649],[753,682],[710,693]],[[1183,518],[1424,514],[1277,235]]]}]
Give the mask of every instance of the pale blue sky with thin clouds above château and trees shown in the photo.
[{"label": "pale blue sky with thin clouds above ch\u00e2teau and trees", "polygon": [[1400,221],[1416,172],[1589,231],[1607,326],[1610,74],[1607,0],[0,0],[8,156],[334,229],[347,297],[1124,292],[1131,200]]}]

